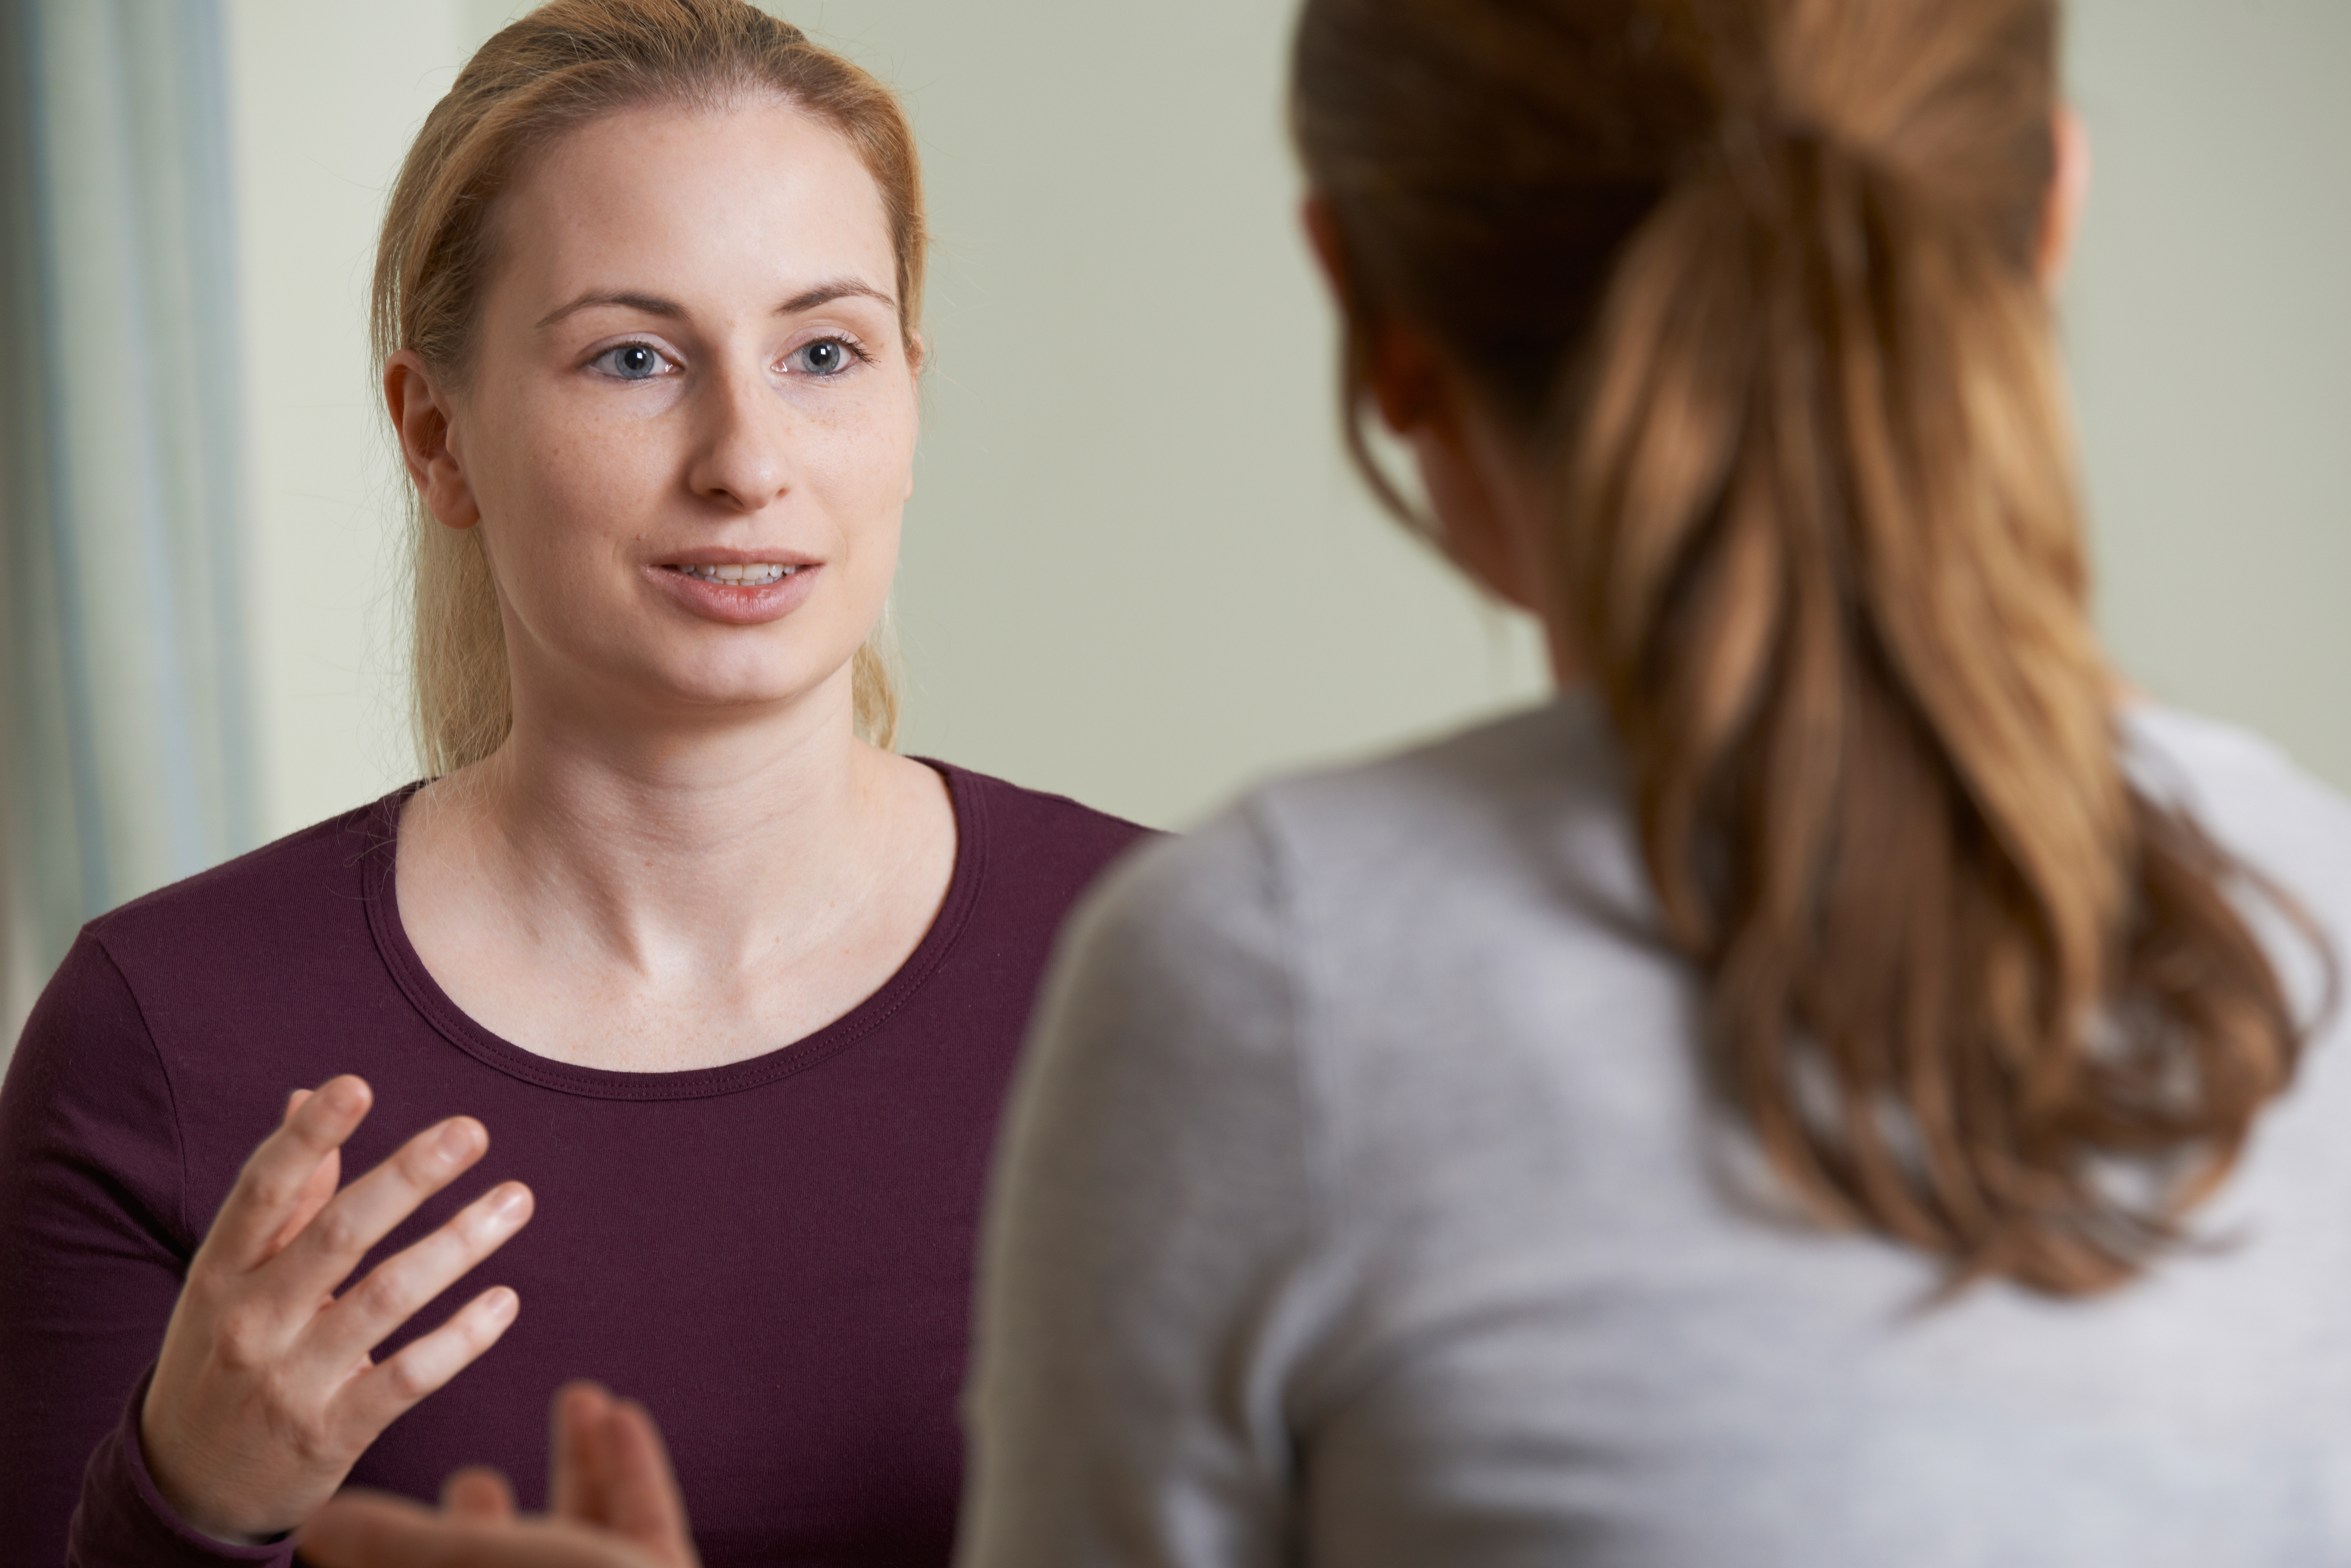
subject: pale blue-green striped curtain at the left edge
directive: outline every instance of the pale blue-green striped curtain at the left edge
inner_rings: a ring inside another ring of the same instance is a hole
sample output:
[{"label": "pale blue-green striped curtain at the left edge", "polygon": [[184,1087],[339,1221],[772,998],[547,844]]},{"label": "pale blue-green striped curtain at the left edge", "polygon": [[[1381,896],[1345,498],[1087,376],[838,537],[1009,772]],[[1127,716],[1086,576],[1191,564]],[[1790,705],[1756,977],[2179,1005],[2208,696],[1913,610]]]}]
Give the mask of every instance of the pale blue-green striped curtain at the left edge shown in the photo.
[{"label": "pale blue-green striped curtain at the left edge", "polygon": [[73,931],[247,849],[219,0],[0,0],[0,1053]]}]

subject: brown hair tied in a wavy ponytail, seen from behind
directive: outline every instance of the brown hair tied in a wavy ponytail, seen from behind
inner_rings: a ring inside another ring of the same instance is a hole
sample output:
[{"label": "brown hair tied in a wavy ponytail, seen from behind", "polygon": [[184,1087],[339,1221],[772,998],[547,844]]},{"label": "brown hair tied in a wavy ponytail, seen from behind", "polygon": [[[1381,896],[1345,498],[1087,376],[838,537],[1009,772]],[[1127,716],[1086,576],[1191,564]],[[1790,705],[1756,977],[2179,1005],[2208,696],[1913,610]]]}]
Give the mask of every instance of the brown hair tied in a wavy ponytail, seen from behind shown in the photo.
[{"label": "brown hair tied in a wavy ponytail, seen from behind", "polygon": [[1401,320],[1556,475],[1552,635],[1770,1168],[1956,1281],[2085,1293],[2179,1237],[2302,1034],[2250,877],[2118,755],[2038,275],[2057,33],[1310,0],[1293,127],[1357,454]]}]

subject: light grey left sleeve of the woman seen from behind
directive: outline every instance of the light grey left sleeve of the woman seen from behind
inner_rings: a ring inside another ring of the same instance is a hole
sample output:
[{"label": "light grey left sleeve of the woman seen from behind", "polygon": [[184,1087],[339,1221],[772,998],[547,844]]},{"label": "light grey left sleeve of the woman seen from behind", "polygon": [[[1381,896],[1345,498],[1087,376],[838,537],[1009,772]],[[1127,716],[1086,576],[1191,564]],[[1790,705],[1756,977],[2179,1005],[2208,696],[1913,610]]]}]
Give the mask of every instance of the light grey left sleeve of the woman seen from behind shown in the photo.
[{"label": "light grey left sleeve of the woman seen from behind", "polygon": [[1317,1284],[1279,875],[1244,818],[1072,926],[983,1237],[964,1568],[1284,1561]]}]

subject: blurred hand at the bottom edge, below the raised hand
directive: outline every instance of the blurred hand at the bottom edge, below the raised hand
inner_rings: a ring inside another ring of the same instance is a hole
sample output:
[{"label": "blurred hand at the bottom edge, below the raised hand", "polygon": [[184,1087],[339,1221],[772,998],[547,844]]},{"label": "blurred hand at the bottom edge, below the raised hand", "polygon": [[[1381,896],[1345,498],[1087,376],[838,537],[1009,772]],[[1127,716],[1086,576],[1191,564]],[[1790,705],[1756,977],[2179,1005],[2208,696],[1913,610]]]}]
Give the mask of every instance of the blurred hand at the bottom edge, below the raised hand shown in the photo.
[{"label": "blurred hand at the bottom edge, below the raised hand", "polygon": [[517,1516],[498,1472],[461,1469],[437,1514],[346,1493],[294,1544],[317,1568],[698,1568],[654,1418],[592,1382],[555,1396],[545,1516]]}]

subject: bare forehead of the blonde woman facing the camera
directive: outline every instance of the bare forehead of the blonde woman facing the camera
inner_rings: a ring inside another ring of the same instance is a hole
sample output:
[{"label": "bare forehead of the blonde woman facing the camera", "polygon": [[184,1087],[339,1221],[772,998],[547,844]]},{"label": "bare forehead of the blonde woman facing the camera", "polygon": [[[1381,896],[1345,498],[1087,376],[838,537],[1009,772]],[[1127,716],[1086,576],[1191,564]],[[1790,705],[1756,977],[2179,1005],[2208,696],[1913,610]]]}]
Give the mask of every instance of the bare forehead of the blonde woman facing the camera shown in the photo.
[{"label": "bare forehead of the blonde woman facing the camera", "polygon": [[529,160],[496,226],[501,284],[534,296],[628,287],[691,303],[830,277],[898,292],[865,165],[778,99],[600,115]]}]

